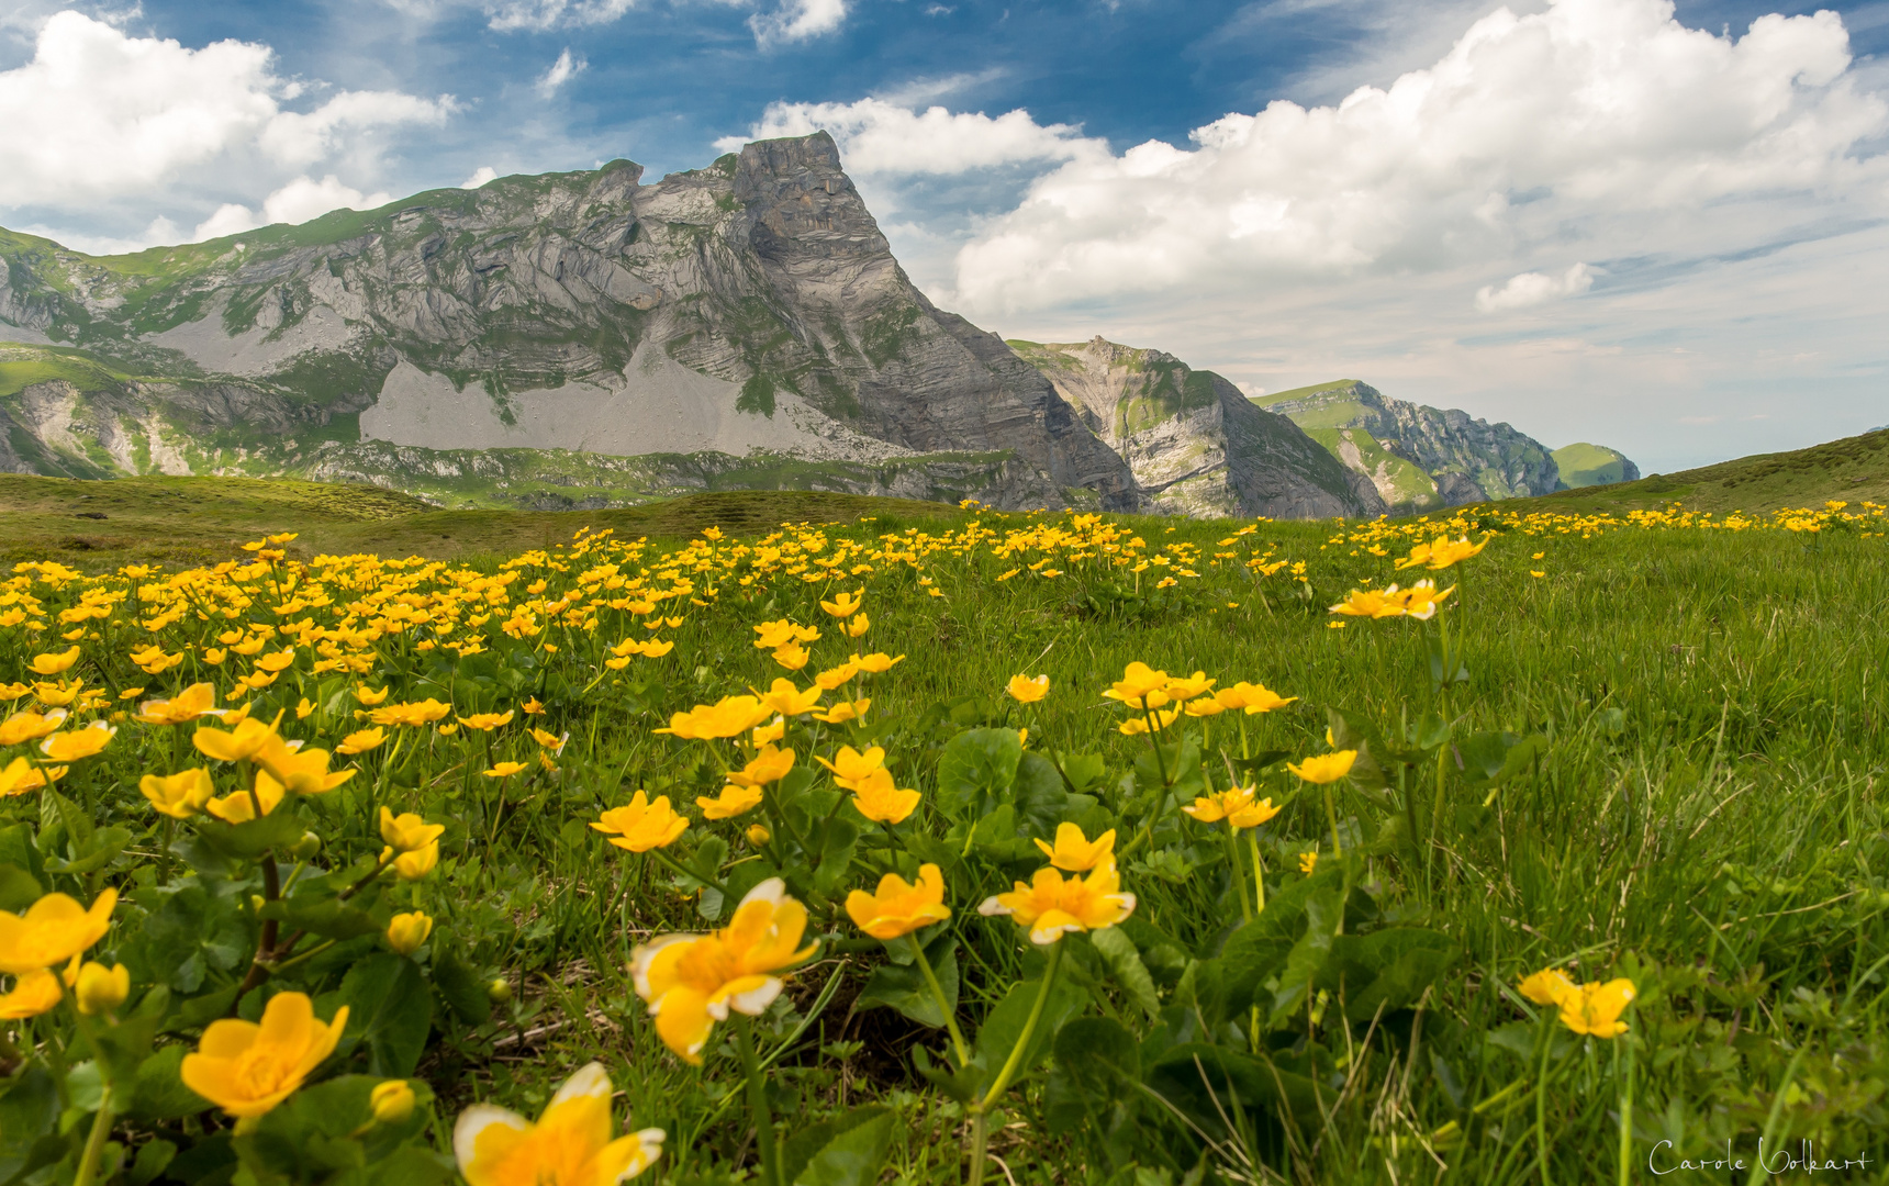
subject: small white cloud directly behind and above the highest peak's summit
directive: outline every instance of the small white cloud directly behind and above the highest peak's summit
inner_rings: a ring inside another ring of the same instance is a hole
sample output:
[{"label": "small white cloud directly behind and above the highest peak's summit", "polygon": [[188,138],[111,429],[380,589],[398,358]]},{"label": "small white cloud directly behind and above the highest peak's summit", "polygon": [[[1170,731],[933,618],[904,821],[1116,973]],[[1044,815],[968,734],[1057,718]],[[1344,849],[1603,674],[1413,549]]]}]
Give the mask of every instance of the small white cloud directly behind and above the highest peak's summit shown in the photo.
[{"label": "small white cloud directly behind and above the highest peak's summit", "polygon": [[1016,162],[1107,159],[1099,140],[1064,123],[1039,125],[1028,111],[992,119],[982,111],[926,108],[912,111],[886,98],[850,104],[769,104],[746,136],[723,136],[716,149],[739,151],[748,140],[807,136],[825,128],[856,176],[962,174]]}]

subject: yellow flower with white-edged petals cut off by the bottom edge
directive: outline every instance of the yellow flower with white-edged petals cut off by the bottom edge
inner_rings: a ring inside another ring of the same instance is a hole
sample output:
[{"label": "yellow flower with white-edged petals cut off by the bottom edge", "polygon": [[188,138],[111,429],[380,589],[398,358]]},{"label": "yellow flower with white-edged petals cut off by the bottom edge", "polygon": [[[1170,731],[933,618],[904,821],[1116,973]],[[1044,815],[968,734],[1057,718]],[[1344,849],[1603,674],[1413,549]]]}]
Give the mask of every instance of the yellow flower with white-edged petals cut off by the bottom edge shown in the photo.
[{"label": "yellow flower with white-edged petals cut off by the bottom edge", "polygon": [[655,1163],[663,1129],[610,1139],[610,1076],[589,1063],[565,1080],[533,1124],[474,1103],[453,1126],[453,1156],[472,1186],[614,1186]]}]

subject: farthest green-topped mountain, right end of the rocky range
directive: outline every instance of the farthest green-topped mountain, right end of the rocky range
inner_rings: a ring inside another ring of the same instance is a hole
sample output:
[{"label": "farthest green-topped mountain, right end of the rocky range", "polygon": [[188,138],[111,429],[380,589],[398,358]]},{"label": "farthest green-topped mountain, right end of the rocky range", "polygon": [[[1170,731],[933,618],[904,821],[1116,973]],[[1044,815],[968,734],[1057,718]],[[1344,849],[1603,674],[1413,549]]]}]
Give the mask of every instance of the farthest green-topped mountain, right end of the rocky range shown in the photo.
[{"label": "farthest green-topped mountain, right end of the rocky range", "polygon": [[1347,468],[1368,476],[1392,514],[1547,495],[1560,485],[1555,455],[1540,440],[1455,408],[1394,400],[1358,380],[1294,387],[1252,402],[1292,419]]}]

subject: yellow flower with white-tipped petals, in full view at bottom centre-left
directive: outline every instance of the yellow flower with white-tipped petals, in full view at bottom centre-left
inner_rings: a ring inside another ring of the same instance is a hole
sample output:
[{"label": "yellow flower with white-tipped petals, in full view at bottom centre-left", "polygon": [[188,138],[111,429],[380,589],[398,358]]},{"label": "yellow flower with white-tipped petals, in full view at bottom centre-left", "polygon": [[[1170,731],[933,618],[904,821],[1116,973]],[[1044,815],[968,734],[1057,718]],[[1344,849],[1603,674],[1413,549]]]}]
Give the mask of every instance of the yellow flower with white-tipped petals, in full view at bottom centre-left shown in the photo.
[{"label": "yellow flower with white-tipped petals, in full view at bottom centre-left", "polygon": [[[650,1003],[655,1033],[684,1061],[701,1065],[701,1050],[729,1010],[759,1016],[780,995],[782,973],[820,944],[799,948],[807,906],[767,878],[740,899],[735,918],[710,935],[663,935],[631,952],[637,995]],[[474,1184],[478,1186],[478,1184]]]}]

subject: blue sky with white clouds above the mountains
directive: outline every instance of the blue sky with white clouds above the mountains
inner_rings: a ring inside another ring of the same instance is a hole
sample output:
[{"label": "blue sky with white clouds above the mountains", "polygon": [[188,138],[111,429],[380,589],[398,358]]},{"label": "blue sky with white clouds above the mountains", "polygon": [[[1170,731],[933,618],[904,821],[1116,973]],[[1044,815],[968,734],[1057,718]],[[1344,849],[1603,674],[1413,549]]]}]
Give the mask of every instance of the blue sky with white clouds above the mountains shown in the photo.
[{"label": "blue sky with white clouds above the mountains", "polygon": [[145,0],[0,11],[0,225],[111,253],[827,128],[1007,338],[1647,472],[1889,425],[1889,0]]}]

